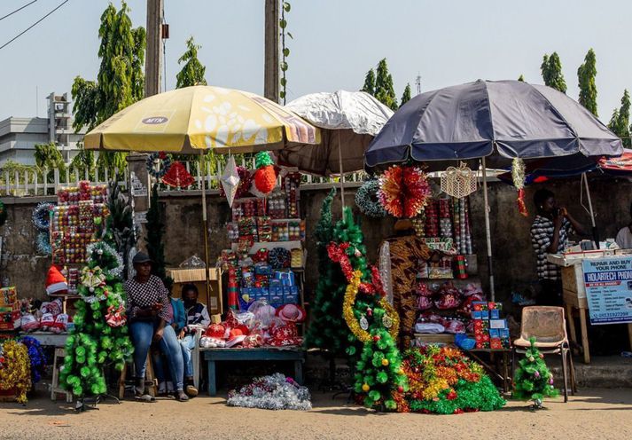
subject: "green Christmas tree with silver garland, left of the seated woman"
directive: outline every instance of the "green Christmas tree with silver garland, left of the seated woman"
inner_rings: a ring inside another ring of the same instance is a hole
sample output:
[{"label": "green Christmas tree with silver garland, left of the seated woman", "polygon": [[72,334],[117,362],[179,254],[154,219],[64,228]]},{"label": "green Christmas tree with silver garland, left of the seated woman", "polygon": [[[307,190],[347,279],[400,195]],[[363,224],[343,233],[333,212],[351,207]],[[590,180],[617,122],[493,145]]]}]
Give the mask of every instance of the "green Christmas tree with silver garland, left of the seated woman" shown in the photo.
[{"label": "green Christmas tree with silver garland, left of the seated woman", "polygon": [[128,327],[107,322],[112,314],[124,314],[122,270],[121,256],[109,244],[101,241],[90,245],[78,287],[82,301],[76,303],[74,330],[66,340],[66,358],[59,376],[62,386],[80,403],[84,397],[105,394],[105,366],[121,370],[134,350]]}]

